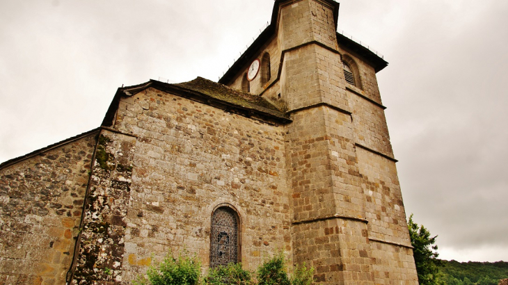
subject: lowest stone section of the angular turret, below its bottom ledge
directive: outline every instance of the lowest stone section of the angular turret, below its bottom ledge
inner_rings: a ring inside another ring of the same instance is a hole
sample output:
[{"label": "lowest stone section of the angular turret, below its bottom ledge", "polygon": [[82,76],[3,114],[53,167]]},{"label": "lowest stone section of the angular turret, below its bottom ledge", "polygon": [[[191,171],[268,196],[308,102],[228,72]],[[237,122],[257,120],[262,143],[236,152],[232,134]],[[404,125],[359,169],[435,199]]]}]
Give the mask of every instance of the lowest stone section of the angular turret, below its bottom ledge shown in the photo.
[{"label": "lowest stone section of the angular turret, below its bottom ledge", "polygon": [[365,221],[330,218],[293,226],[294,262],[311,264],[320,284],[372,284]]}]

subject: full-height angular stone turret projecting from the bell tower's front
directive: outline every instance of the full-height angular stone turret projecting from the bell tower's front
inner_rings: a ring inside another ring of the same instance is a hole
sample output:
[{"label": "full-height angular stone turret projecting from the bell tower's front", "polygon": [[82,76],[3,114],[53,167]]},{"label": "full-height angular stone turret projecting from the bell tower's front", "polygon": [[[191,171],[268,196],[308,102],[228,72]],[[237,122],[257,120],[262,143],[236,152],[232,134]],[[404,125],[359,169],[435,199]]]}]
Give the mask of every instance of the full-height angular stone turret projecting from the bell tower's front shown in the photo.
[{"label": "full-height angular stone turret projecting from the bell tower's front", "polygon": [[324,284],[374,284],[337,9],[333,1],[280,3],[293,258],[312,264]]}]

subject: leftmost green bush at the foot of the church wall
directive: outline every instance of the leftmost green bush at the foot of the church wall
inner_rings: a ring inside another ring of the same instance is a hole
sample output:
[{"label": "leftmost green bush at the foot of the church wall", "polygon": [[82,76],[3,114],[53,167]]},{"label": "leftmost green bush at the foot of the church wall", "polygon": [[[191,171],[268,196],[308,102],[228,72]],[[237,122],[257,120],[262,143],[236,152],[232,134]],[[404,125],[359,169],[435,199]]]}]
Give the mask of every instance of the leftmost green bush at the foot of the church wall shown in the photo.
[{"label": "leftmost green bush at the foot of the church wall", "polygon": [[138,277],[135,285],[198,285],[200,284],[201,263],[196,256],[179,254],[174,258],[171,252],[156,266],[146,272],[148,279]]}]

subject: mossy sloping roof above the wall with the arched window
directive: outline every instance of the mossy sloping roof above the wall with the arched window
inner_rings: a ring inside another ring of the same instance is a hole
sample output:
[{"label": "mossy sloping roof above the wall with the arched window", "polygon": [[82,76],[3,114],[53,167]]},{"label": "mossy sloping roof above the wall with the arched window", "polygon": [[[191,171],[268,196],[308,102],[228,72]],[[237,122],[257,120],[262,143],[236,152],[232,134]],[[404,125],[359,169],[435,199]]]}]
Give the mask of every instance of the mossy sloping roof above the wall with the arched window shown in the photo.
[{"label": "mossy sloping roof above the wall with the arched window", "polygon": [[221,83],[216,83],[203,77],[198,77],[192,81],[171,84],[194,92],[199,92],[214,99],[228,102],[230,104],[248,108],[261,113],[267,113],[275,117],[288,119],[276,106],[273,106],[267,99],[261,96],[253,95],[234,88],[230,88]]}]

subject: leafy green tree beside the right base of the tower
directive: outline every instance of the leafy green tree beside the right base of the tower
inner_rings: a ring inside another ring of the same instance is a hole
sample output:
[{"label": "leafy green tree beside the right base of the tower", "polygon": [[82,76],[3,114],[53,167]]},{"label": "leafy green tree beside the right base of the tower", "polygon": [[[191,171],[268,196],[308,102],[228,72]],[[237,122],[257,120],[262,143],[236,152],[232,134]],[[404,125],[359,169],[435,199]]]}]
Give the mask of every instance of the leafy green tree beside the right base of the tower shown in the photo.
[{"label": "leafy green tree beside the right base of the tower", "polygon": [[416,272],[418,273],[418,282],[420,285],[438,284],[438,266],[441,265],[438,259],[438,246],[436,238],[431,237],[428,229],[423,225],[418,226],[413,222],[413,214],[409,216],[408,221],[409,236],[411,245],[413,245],[413,257],[415,258]]}]

